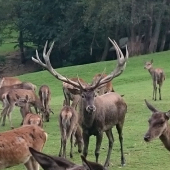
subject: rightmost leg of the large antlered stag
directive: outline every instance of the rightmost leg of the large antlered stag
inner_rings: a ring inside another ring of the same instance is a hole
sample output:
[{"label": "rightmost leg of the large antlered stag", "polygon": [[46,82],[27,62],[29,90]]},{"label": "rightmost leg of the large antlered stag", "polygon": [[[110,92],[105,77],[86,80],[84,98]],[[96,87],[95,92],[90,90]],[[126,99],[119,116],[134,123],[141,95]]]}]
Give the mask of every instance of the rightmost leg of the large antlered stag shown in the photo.
[{"label": "rightmost leg of the large antlered stag", "polygon": [[121,165],[124,166],[125,165],[125,158],[124,158],[124,154],[123,154],[122,128],[123,128],[123,125],[121,125],[121,124],[116,125],[116,129],[117,129],[117,132],[119,134],[119,142],[120,142],[120,150],[121,150]]}]

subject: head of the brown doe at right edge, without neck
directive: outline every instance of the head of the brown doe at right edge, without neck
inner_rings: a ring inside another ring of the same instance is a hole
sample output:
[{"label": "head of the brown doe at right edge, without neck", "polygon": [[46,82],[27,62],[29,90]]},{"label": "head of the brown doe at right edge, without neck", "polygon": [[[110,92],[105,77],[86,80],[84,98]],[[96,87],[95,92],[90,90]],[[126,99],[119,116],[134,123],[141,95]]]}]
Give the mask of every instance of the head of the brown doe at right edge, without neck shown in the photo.
[{"label": "head of the brown doe at right edge, without neck", "polygon": [[154,106],[149,104],[147,100],[145,100],[146,106],[151,111],[152,115],[149,118],[149,129],[144,136],[144,140],[146,142],[150,142],[154,138],[160,137],[162,133],[168,127],[168,120],[170,118],[170,111],[161,112],[158,111]]}]

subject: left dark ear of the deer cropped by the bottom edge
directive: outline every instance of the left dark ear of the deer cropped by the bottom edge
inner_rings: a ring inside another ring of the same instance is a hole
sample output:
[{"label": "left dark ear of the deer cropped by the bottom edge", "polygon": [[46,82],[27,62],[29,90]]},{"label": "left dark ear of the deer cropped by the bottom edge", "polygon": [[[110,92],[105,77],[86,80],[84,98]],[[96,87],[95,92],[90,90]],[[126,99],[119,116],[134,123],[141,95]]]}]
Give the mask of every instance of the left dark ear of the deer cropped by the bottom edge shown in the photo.
[{"label": "left dark ear of the deer cropped by the bottom edge", "polygon": [[59,169],[57,163],[48,155],[38,152],[33,148],[29,147],[29,150],[35,160],[41,165],[44,170]]}]

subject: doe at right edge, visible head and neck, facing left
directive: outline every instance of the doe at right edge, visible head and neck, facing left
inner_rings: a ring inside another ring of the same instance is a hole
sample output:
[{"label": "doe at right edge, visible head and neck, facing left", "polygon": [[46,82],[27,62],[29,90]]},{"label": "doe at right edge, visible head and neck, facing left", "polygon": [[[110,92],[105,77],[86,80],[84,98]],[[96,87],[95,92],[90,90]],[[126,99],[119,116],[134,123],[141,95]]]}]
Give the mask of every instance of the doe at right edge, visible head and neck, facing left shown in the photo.
[{"label": "doe at right edge, visible head and neck, facing left", "polygon": [[154,106],[145,100],[146,106],[152,112],[149,118],[149,129],[144,136],[146,142],[150,142],[155,138],[159,138],[167,150],[170,151],[170,125],[168,120],[170,118],[170,111],[162,112],[157,110]]}]

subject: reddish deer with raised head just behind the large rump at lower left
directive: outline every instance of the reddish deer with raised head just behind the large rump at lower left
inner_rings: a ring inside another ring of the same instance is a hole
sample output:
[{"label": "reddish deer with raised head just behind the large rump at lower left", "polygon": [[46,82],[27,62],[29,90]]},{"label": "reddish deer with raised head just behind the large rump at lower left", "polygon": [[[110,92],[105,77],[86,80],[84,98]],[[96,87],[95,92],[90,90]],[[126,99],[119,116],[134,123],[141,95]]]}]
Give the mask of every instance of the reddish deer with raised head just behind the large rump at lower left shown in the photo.
[{"label": "reddish deer with raised head just behind the large rump at lower left", "polygon": [[16,106],[20,107],[20,112],[23,117],[21,125],[38,125],[43,128],[43,121],[40,115],[30,112],[30,104],[28,95],[25,98],[21,98],[16,94],[17,101]]}]

